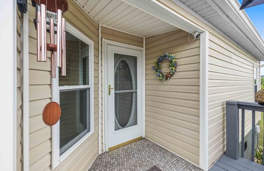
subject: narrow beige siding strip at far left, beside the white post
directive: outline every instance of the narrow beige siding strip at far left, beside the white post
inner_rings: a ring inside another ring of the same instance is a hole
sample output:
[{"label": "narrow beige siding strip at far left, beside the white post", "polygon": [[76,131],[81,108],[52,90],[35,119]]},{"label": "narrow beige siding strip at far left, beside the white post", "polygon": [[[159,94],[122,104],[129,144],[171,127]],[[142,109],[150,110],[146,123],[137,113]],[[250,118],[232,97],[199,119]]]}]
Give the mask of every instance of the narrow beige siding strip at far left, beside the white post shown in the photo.
[{"label": "narrow beige siding strip at far left, beside the white post", "polygon": [[22,13],[17,8],[17,171],[22,171]]}]

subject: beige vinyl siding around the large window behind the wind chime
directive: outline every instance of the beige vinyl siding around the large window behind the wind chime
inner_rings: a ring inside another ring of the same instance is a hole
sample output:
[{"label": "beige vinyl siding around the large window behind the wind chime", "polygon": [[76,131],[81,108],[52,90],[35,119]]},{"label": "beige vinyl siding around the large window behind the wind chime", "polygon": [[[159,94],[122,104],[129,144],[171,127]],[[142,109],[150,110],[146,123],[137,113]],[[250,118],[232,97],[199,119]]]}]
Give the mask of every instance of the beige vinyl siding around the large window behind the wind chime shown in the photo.
[{"label": "beige vinyl siding around the large window behind the wind chime", "polygon": [[[31,1],[29,1],[31,3]],[[94,42],[94,133],[61,162],[56,171],[87,171],[98,155],[98,24],[68,0],[66,21]],[[35,8],[29,5],[29,165],[30,171],[51,171],[51,127],[42,120],[51,101],[50,52],[47,62],[37,62]],[[49,35],[47,35],[49,41]]]}]

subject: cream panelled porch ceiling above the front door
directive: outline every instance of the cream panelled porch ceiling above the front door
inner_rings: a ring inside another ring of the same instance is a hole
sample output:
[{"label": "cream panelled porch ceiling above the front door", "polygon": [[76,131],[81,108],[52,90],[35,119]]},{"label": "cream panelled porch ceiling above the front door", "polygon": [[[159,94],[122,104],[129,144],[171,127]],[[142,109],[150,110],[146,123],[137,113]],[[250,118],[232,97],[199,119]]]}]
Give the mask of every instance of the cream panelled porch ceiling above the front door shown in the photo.
[{"label": "cream panelled porch ceiling above the front door", "polygon": [[76,1],[102,25],[136,35],[151,36],[177,29],[177,27],[121,0]]}]

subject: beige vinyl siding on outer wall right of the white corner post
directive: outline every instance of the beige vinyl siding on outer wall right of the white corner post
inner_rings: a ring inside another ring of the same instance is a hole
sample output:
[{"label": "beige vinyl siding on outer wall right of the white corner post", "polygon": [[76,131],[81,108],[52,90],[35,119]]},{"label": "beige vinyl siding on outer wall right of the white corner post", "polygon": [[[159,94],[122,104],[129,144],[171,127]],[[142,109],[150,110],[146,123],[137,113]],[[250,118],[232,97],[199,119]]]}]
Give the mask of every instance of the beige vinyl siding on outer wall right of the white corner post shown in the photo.
[{"label": "beige vinyl siding on outer wall right of the white corner post", "polygon": [[[253,66],[253,64],[259,66],[259,61],[253,56],[249,55],[247,52],[243,51],[236,44],[227,40],[215,29],[208,26],[206,23],[200,21],[188,11],[178,6],[173,1],[158,1],[168,8],[172,9],[177,14],[181,15],[183,18],[197,24],[198,26],[209,32],[210,56],[213,56],[212,49],[214,48],[212,46],[214,44],[212,42],[215,42],[216,44],[219,44],[219,42],[221,42],[219,45],[221,48],[220,59],[209,57],[209,63],[218,61],[218,64],[222,66],[219,67],[209,64],[209,98],[211,98],[209,99],[209,117],[213,115],[211,111],[212,108],[214,108],[217,114],[214,118],[209,118],[209,166],[212,166],[212,164],[217,161],[217,159],[225,151],[225,130],[223,129],[225,127],[225,108],[223,102],[225,100],[232,99],[232,97],[234,100],[243,100],[248,102],[253,100],[253,68],[252,71],[250,71],[248,67]],[[224,55],[222,54],[225,54],[225,56],[227,57],[223,58]],[[212,73],[213,68],[216,73]],[[232,75],[236,75],[235,78],[234,76],[232,78]],[[243,78],[245,78],[245,80],[243,80]],[[251,83],[249,79],[251,79]],[[217,93],[217,91],[220,91],[222,93],[220,93],[219,96],[212,95],[212,93]],[[212,98],[215,98],[215,100],[212,100]],[[256,117],[256,119],[257,118],[259,117]],[[250,128],[248,122],[247,124],[247,127]]]}]

